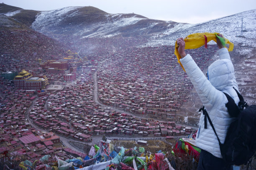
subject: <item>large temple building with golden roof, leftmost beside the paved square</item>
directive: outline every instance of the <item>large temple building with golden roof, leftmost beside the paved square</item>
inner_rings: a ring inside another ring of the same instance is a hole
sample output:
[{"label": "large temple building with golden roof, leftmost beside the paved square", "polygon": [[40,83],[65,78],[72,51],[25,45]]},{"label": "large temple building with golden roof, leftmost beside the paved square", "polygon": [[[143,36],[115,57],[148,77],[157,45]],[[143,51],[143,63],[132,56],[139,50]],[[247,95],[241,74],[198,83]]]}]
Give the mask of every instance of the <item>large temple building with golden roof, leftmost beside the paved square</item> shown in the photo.
[{"label": "large temple building with golden roof, leftmost beside the paved square", "polygon": [[22,70],[14,77],[14,87],[24,90],[41,90],[49,85],[46,76],[33,76],[31,73]]}]

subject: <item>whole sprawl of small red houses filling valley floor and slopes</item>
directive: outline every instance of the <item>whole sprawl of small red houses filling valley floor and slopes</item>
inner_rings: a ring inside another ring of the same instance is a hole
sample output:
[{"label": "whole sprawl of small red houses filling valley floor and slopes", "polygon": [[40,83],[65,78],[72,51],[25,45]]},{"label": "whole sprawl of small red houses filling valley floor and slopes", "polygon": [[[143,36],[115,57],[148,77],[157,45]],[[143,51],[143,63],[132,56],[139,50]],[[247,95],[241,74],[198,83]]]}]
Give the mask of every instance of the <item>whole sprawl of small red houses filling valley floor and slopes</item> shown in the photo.
[{"label": "whole sprawl of small red houses filling valley floor and slopes", "polygon": [[[25,69],[41,74],[45,69],[49,82],[53,82],[54,78],[61,77],[63,73],[51,72],[52,70],[65,70],[69,67],[69,73],[76,74],[76,66],[82,65],[79,58],[74,59],[74,56],[69,54],[65,60],[59,60],[63,59],[63,56],[59,55],[64,53],[62,47],[37,32],[6,30],[0,34],[4,42],[0,51],[3,56],[3,71],[20,72]],[[84,40],[87,41],[86,38]],[[110,45],[109,40],[113,41],[115,47]],[[29,44],[28,41],[31,41],[30,47],[22,46]],[[41,94],[36,97],[29,90],[8,86],[7,81],[0,79],[0,83],[4,85],[0,87],[0,153],[26,155],[31,160],[51,153],[59,156],[65,156],[66,153],[82,155],[63,147],[56,134],[82,141],[90,141],[93,135],[190,134],[192,129],[176,125],[173,121],[175,112],[186,102],[192,89],[188,77],[173,55],[174,47],[126,48],[126,45],[131,47],[143,41],[133,38],[124,41],[121,37],[101,41],[91,38],[92,44],[85,43],[80,52],[86,61],[82,65],[79,80],[64,91],[49,96]],[[105,45],[104,48],[100,47],[101,45]],[[118,45],[120,48],[116,48]],[[95,47],[94,52],[89,54],[88,49],[92,47]],[[40,53],[36,52],[38,48]],[[217,50],[216,46],[209,45],[209,48],[190,52],[200,67],[204,67],[209,57]],[[66,60],[70,61],[69,66]],[[116,112],[110,107],[96,105],[92,77],[96,70],[99,99],[102,103],[145,115],[145,118],[133,117]],[[50,75],[54,77],[52,80]],[[71,81],[76,78],[66,75],[64,79]],[[30,107],[31,111],[25,117]],[[154,117],[166,121],[157,121]],[[27,118],[50,133],[33,128]]]}]

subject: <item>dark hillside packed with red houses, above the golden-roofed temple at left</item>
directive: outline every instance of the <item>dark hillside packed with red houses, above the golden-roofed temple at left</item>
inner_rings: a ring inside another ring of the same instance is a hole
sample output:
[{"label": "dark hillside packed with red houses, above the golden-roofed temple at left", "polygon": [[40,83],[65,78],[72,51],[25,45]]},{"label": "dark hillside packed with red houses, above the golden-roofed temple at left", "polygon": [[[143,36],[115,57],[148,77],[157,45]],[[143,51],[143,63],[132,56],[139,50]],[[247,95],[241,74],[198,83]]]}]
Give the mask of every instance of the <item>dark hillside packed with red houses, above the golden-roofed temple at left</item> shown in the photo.
[{"label": "dark hillside packed with red houses, above the golden-roofed temple at left", "polygon": [[59,58],[66,50],[59,42],[33,30],[0,30],[1,71],[43,73],[39,63]]}]

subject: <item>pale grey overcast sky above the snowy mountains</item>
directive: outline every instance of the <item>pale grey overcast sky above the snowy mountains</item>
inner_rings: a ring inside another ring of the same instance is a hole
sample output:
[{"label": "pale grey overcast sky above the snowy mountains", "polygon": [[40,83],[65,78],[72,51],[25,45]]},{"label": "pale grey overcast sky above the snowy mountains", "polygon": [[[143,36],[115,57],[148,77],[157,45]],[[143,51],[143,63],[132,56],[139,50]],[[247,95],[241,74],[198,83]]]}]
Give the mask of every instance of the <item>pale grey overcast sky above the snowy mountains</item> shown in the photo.
[{"label": "pale grey overcast sky above the snowy mountains", "polygon": [[107,13],[136,13],[147,18],[179,23],[208,20],[256,9],[256,0],[0,0],[26,10],[55,10],[93,6]]}]

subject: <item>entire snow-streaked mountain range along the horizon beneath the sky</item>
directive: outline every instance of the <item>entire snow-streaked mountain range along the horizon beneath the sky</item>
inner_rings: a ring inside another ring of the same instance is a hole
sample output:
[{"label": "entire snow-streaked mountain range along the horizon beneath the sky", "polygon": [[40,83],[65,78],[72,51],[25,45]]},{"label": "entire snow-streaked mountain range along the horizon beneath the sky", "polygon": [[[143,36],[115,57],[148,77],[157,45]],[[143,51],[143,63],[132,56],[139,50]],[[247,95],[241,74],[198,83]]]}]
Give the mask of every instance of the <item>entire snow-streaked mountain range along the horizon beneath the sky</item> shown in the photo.
[{"label": "entire snow-streaked mountain range along the horizon beneath the sky", "polygon": [[[146,36],[148,42],[142,46],[158,46],[174,45],[178,37],[186,37],[195,32],[220,32],[235,45],[256,46],[256,10],[205,23],[188,24],[153,20],[137,14],[109,14],[90,6],[41,12],[7,6],[10,9],[0,9],[0,13],[54,38],[67,35],[76,39]],[[6,5],[3,7],[7,8]]]}]

